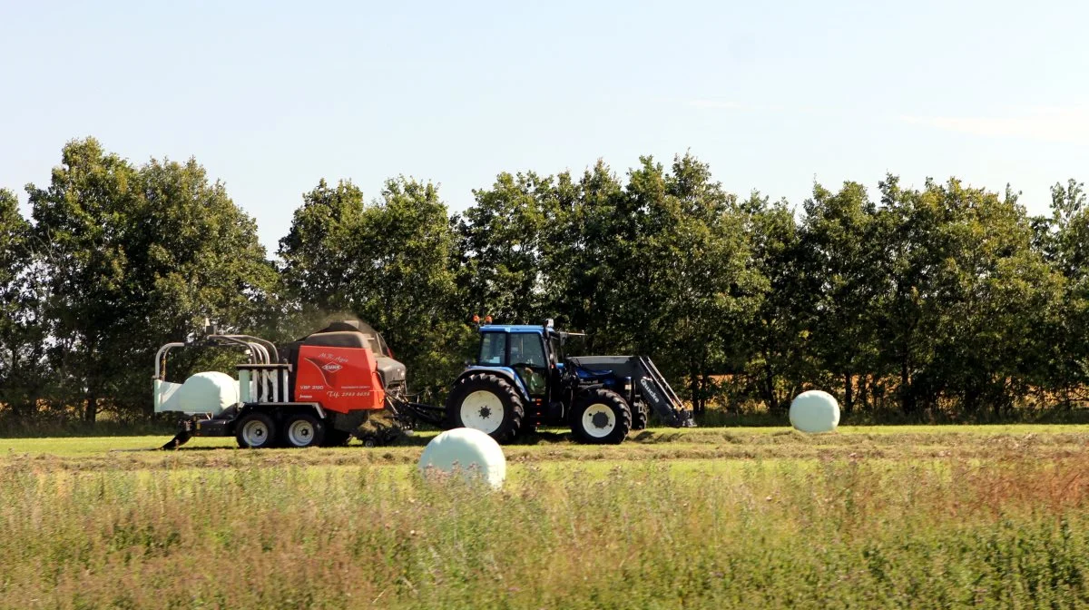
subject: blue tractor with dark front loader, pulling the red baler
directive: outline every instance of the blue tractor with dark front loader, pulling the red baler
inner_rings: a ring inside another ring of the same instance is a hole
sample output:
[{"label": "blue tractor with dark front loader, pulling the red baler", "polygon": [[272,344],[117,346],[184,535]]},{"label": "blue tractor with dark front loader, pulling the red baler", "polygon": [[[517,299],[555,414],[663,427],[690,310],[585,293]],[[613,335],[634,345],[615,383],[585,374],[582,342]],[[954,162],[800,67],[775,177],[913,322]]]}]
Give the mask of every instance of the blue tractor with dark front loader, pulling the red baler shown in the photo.
[{"label": "blue tractor with dark front loader, pulling the red baler", "polygon": [[444,427],[476,428],[499,442],[541,426],[570,426],[586,443],[620,443],[652,410],[669,426],[693,426],[686,408],[646,356],[563,355],[574,333],[541,326],[484,325],[480,351],[454,381]]}]

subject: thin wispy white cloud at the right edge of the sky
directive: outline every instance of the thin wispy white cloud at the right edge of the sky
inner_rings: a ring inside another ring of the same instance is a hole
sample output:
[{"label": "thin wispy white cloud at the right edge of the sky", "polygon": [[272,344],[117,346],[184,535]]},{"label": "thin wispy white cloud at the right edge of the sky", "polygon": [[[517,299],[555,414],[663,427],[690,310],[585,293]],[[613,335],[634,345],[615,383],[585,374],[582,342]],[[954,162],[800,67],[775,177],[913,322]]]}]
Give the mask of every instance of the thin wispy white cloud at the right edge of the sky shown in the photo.
[{"label": "thin wispy white cloud at the right edge of the sky", "polygon": [[1089,144],[1089,107],[1033,108],[998,117],[898,118],[906,123],[988,137]]}]

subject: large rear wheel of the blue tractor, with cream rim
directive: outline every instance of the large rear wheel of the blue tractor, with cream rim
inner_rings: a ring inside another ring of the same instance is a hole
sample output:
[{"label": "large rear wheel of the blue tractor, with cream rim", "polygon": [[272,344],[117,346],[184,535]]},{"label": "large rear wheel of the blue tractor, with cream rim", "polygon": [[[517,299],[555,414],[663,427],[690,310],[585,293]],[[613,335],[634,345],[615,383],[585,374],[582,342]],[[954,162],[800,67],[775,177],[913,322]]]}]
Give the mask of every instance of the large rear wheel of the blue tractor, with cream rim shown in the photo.
[{"label": "large rear wheel of the blue tractor, with cream rim", "polygon": [[526,407],[514,385],[486,373],[458,379],[446,401],[451,426],[487,432],[498,442],[517,436],[525,414]]}]

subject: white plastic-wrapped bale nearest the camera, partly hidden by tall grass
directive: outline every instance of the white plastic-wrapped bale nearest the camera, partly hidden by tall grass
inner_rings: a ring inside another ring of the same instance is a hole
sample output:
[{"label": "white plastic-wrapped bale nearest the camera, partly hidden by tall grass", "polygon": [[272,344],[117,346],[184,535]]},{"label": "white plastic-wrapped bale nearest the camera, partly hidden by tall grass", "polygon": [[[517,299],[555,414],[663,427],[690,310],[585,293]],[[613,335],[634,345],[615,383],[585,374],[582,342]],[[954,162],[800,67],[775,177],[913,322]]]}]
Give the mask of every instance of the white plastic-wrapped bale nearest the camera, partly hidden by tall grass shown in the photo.
[{"label": "white plastic-wrapped bale nearest the camera, partly hidden by tall grass", "polygon": [[487,434],[454,428],[427,443],[419,456],[419,469],[425,476],[431,472],[457,473],[498,489],[506,478],[506,457],[495,439]]}]

